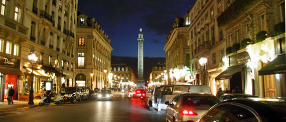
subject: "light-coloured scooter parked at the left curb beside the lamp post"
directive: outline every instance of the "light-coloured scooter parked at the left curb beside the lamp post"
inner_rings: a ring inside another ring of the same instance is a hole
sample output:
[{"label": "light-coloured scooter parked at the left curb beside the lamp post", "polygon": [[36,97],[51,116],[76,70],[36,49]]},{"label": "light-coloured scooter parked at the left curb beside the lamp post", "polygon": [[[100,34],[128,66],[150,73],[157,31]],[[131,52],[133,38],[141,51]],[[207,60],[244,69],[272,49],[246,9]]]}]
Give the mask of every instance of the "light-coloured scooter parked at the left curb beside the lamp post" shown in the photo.
[{"label": "light-coloured scooter parked at the left curb beside the lamp post", "polygon": [[39,102],[40,106],[43,106],[45,104],[57,104],[62,105],[64,96],[61,94],[55,95],[52,97],[51,91],[47,90],[44,95],[42,96],[42,100]]}]

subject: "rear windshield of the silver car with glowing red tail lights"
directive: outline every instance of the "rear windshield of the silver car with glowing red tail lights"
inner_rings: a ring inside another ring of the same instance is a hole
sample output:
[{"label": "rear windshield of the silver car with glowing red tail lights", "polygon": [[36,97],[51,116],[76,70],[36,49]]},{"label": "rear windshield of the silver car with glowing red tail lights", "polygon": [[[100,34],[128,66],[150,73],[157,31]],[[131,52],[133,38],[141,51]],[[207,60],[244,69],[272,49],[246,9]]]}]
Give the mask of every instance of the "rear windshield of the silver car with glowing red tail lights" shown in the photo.
[{"label": "rear windshield of the silver car with glowing red tail lights", "polygon": [[214,96],[184,96],[183,105],[187,106],[213,106],[218,103]]}]

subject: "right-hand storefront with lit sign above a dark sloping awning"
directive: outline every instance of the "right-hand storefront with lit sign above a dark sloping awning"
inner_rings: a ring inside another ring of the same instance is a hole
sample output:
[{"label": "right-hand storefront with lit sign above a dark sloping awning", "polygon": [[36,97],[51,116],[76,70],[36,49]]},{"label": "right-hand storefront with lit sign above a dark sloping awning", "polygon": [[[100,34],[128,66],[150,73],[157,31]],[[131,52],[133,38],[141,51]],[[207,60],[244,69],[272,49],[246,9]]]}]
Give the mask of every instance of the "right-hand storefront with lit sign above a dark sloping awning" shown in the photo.
[{"label": "right-hand storefront with lit sign above a dark sloping awning", "polygon": [[229,90],[235,92],[235,88],[241,91],[241,93],[252,94],[252,79],[250,78],[249,72],[250,68],[246,66],[246,61],[248,61],[248,52],[242,50],[237,54],[232,54],[228,57],[229,67],[222,71],[219,75],[215,77],[215,80],[221,80],[219,82],[224,82],[228,84]]}]

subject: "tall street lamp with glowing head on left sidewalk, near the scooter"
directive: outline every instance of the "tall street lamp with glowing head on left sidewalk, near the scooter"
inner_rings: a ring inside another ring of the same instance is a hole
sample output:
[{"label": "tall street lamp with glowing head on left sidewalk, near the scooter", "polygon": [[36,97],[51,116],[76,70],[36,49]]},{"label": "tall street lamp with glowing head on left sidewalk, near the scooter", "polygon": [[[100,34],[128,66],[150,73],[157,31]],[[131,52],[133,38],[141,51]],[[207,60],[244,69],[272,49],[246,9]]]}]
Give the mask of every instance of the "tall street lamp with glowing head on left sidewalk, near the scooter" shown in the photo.
[{"label": "tall street lamp with glowing head on left sidewalk, near the scooter", "polygon": [[36,53],[34,52],[30,52],[28,54],[28,59],[30,61],[30,63],[32,64],[32,73],[31,73],[31,88],[30,88],[30,94],[29,94],[29,102],[28,104],[34,104],[34,87],[33,87],[33,80],[34,80],[34,77],[33,77],[33,69],[34,69],[34,64],[37,62],[38,60],[38,56]]}]

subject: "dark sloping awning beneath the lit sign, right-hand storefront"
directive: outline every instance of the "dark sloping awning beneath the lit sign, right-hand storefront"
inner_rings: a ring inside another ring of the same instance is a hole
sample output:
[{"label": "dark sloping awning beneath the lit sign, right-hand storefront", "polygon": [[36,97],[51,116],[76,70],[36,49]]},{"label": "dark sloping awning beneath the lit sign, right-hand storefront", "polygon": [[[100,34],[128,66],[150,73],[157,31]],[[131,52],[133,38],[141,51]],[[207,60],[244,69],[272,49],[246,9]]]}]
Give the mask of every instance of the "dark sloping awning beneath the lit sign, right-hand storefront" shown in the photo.
[{"label": "dark sloping awning beneath the lit sign, right-hand storefront", "polygon": [[217,75],[215,77],[215,80],[222,80],[222,79],[230,79],[230,78],[232,78],[232,74],[236,73],[239,69],[244,67],[244,65],[245,64],[243,63],[243,64],[239,64],[239,65],[229,66],[226,70],[224,70],[219,75]]}]

